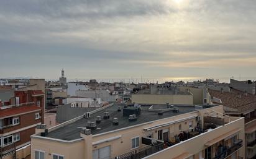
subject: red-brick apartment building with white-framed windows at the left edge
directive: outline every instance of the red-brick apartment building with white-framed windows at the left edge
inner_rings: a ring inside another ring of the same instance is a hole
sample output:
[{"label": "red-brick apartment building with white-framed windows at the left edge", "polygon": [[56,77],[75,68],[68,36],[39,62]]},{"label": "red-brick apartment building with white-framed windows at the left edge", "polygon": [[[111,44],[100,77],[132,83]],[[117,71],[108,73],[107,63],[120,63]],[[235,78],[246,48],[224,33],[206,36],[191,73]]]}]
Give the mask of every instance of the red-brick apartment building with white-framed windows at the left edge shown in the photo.
[{"label": "red-brick apartment building with white-framed windows at the left edge", "polygon": [[43,123],[44,93],[15,91],[9,101],[0,101],[0,158],[16,156],[16,149],[30,144],[35,126]]}]

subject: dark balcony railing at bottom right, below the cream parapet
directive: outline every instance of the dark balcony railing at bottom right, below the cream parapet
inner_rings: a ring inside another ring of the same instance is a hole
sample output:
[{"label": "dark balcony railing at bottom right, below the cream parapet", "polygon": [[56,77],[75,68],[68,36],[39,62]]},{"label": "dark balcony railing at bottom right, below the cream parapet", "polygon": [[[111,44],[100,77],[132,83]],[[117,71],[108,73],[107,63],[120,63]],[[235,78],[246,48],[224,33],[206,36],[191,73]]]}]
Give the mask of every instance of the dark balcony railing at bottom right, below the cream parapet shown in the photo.
[{"label": "dark balcony railing at bottom right, below the cream parapet", "polygon": [[242,145],[242,140],[237,140],[237,142],[235,142],[235,144],[232,145],[232,147],[226,148],[221,153],[217,154],[216,157],[214,157],[213,159],[224,159],[231,155],[232,153],[234,153],[235,151],[237,151],[239,148],[241,148]]}]

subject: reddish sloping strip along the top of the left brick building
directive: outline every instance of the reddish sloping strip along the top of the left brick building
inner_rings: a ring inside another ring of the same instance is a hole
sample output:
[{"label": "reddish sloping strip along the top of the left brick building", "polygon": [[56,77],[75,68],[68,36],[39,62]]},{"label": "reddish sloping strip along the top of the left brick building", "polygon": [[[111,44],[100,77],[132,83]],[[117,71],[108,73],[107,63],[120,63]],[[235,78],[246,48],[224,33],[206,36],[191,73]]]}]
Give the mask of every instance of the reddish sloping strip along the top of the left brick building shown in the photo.
[{"label": "reddish sloping strip along the top of the left brick building", "polygon": [[0,117],[2,118],[5,116],[15,116],[15,114],[27,113],[29,111],[41,110],[41,109],[42,108],[38,107],[37,105],[13,107],[5,110],[0,110]]}]

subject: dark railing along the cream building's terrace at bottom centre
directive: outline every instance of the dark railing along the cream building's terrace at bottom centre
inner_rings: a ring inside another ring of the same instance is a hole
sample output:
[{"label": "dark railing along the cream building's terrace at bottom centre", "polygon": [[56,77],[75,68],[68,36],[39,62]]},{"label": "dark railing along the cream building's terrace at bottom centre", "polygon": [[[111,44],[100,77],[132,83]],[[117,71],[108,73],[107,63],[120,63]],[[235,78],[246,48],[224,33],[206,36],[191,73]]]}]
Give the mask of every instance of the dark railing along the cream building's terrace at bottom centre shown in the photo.
[{"label": "dark railing along the cream building's terrace at bottom centre", "polygon": [[134,152],[125,153],[123,155],[119,155],[112,159],[140,159],[152,155],[160,150],[163,150],[163,143],[158,145],[149,145],[144,148],[140,148],[139,150],[135,150]]}]

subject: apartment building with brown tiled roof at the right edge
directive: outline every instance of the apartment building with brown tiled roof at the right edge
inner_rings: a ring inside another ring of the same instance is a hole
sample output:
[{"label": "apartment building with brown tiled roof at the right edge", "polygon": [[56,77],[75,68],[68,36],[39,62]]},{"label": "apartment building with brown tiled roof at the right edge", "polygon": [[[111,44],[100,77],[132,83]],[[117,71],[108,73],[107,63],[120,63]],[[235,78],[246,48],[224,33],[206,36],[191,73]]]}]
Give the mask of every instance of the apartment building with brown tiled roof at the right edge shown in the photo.
[{"label": "apartment building with brown tiled roof at the right edge", "polygon": [[245,158],[256,158],[256,96],[231,88],[230,92],[209,90],[224,106],[224,114],[245,118]]}]

